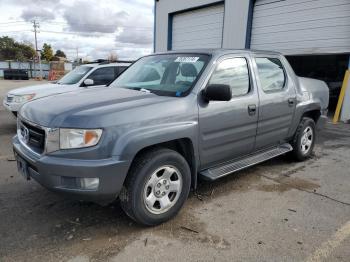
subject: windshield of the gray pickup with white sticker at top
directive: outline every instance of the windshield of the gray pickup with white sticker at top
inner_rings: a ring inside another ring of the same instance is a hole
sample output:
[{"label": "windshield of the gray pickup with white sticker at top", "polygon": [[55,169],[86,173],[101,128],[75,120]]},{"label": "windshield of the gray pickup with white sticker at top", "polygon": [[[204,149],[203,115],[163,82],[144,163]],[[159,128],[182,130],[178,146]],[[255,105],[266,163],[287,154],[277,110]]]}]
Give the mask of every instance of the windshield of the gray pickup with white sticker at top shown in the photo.
[{"label": "windshield of the gray pickup with white sticker at top", "polygon": [[186,96],[209,60],[201,54],[166,54],[143,57],[121,74],[111,87]]}]

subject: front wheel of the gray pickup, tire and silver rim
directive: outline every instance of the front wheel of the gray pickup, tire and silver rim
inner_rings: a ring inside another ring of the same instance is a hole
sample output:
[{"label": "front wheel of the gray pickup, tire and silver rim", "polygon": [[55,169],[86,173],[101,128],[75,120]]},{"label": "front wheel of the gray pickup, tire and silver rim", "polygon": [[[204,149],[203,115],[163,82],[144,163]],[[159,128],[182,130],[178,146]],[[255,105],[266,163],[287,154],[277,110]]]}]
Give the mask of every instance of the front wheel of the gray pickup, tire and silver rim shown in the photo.
[{"label": "front wheel of the gray pickup, tire and silver rim", "polygon": [[137,223],[159,225],[185,203],[191,186],[187,161],[176,151],[153,149],[133,162],[120,193],[125,213]]}]

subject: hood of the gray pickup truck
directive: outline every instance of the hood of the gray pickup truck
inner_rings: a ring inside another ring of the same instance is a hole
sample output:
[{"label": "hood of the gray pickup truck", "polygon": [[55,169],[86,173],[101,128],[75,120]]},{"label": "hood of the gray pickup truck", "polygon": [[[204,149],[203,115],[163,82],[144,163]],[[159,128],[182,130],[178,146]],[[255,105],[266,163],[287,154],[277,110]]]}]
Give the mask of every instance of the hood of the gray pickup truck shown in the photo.
[{"label": "hood of the gray pickup truck", "polygon": [[89,128],[104,126],[102,121],[108,117],[110,118],[107,122],[115,124],[116,113],[127,114],[125,111],[129,110],[132,113],[137,111],[137,114],[142,114],[141,110],[147,110],[146,106],[154,107],[169,100],[177,99],[124,88],[102,87],[28,102],[22,106],[20,116],[46,127]]}]

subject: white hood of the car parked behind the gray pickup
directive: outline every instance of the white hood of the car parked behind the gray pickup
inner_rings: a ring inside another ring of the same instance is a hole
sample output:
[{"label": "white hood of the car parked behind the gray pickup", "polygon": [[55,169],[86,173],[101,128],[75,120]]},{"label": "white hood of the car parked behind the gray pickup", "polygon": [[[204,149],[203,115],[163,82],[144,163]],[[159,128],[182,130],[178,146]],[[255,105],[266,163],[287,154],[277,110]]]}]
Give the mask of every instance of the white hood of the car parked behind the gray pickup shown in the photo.
[{"label": "white hood of the car parked behind the gray pickup", "polygon": [[42,84],[42,85],[16,88],[14,90],[11,90],[9,94],[11,95],[36,94],[34,99],[37,99],[48,95],[73,91],[73,90],[76,90],[76,88],[77,87],[75,85],[59,85],[54,83],[48,83],[48,84]]}]

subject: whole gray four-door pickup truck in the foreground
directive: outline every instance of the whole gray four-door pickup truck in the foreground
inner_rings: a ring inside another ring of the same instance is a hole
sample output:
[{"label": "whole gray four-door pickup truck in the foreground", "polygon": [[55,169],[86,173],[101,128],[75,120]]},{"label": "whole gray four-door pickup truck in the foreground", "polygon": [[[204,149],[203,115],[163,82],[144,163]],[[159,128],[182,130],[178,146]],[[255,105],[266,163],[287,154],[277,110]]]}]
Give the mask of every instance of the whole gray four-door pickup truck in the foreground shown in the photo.
[{"label": "whole gray four-door pickup truck in the foreground", "polygon": [[199,178],[312,153],[328,88],[274,52],[145,56],[109,87],[26,103],[13,147],[20,173],[81,200],[112,202],[144,225],[174,217]]}]

